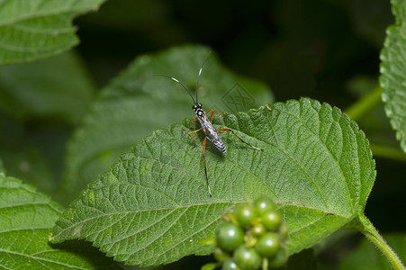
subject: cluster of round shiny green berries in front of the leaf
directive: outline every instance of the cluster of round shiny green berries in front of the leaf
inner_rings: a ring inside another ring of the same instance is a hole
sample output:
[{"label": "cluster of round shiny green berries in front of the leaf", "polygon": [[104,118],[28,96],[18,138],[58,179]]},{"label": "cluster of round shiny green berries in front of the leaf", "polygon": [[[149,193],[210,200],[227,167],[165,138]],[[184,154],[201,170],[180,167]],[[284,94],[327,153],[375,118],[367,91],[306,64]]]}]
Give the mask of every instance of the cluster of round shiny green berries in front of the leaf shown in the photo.
[{"label": "cluster of round shiny green berries in front of the leaf", "polygon": [[214,251],[222,270],[269,269],[286,263],[288,228],[270,198],[239,204],[223,219]]}]

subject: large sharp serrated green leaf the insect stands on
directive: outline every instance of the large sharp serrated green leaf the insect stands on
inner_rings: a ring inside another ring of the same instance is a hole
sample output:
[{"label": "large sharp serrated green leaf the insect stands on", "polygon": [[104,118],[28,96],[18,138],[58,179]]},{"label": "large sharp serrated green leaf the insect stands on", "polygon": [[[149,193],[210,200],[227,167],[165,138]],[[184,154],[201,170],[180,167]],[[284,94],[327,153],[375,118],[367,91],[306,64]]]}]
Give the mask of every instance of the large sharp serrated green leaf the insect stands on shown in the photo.
[{"label": "large sharp serrated green leaf the insect stands on", "polygon": [[211,253],[202,240],[213,237],[221,212],[267,194],[289,225],[293,254],[363,213],[374,160],[364,132],[338,108],[292,100],[219,116],[214,126],[236,130],[264,151],[228,132],[222,134],[226,153],[209,143],[212,198],[202,148],[186,135],[195,127],[185,120],[155,131],[89,184],[57,221],[51,241],[86,238],[129,265],[170,263]]}]

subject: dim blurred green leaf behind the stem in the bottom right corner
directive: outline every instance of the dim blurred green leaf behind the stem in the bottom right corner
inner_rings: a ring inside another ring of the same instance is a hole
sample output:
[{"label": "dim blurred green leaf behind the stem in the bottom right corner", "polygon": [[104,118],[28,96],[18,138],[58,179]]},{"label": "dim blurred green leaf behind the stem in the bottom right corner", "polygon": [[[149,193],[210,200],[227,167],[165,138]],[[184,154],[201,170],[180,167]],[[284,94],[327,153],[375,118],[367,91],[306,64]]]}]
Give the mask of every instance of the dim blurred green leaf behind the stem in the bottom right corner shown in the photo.
[{"label": "dim blurred green leaf behind the stem in the bottom right corner", "polygon": [[[406,261],[406,236],[404,233],[385,235],[385,239],[401,260]],[[362,239],[356,250],[340,262],[340,270],[390,270],[393,269],[386,257],[383,257],[379,250],[368,241]]]}]

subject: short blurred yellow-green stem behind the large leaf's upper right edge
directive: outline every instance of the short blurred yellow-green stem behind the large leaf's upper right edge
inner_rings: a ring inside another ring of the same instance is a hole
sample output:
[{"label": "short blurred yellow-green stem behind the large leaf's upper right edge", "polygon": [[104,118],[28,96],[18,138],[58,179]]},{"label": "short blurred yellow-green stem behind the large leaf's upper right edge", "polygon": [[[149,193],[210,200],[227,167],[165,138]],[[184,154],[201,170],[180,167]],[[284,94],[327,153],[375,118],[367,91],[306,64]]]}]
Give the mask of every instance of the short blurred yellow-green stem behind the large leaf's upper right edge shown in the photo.
[{"label": "short blurred yellow-green stem behind the large leaf's upper right edge", "polygon": [[374,90],[366,94],[356,103],[353,103],[346,110],[347,115],[353,121],[357,121],[359,118],[365,115],[365,113],[370,112],[378,104],[382,103],[382,87],[376,86]]}]

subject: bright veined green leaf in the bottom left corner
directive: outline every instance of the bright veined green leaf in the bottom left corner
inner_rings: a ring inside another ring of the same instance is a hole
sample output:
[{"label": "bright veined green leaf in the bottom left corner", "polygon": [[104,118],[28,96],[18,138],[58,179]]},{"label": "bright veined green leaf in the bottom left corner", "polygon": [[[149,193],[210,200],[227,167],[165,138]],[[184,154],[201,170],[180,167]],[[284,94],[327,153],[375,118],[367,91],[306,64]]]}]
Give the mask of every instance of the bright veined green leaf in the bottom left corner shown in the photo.
[{"label": "bright veined green leaf in the bottom left corner", "polygon": [[63,208],[28,184],[0,174],[0,268],[118,268],[89,245],[51,245],[50,228]]}]

